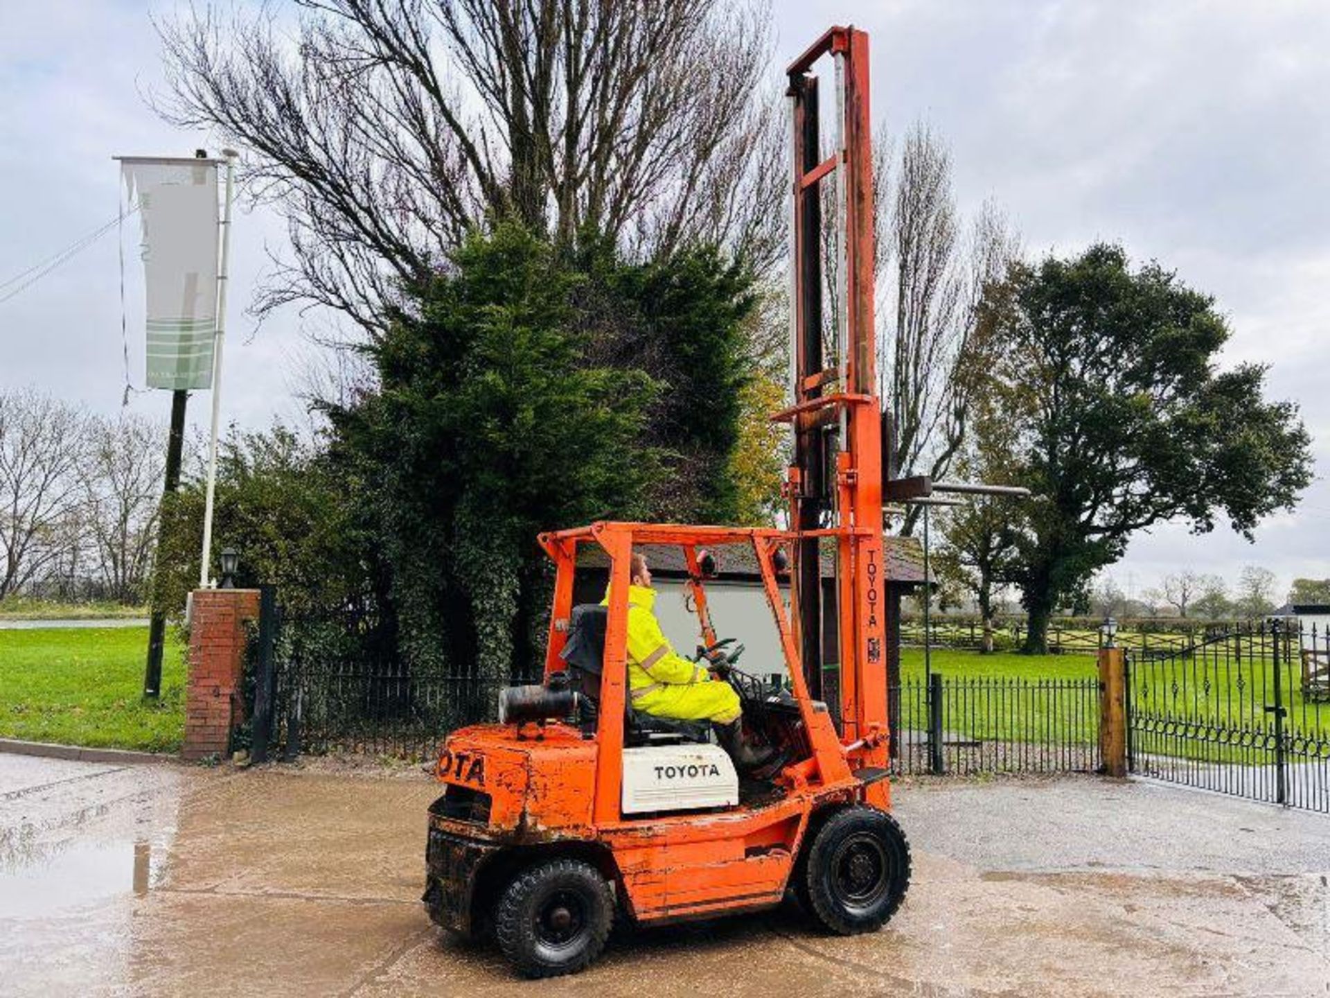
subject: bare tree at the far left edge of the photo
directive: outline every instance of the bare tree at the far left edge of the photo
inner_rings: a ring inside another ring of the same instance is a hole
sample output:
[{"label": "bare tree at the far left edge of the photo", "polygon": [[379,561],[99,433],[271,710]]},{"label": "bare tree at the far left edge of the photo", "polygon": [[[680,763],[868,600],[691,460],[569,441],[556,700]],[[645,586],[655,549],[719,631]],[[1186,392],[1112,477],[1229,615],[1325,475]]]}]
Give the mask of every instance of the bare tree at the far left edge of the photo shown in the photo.
[{"label": "bare tree at the far left edge of the photo", "polygon": [[80,410],[45,395],[0,394],[0,599],[69,552],[85,426]]}]

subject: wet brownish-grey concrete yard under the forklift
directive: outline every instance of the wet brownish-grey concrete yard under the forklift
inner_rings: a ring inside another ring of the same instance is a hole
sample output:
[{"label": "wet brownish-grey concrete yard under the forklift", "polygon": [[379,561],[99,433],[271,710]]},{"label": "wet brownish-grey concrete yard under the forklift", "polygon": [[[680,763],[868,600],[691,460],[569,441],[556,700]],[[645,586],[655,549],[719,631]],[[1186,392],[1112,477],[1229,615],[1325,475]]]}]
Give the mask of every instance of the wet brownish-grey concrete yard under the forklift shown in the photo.
[{"label": "wet brownish-grey concrete yard under the forklift", "polygon": [[880,933],[797,910],[515,981],[419,905],[420,777],[0,754],[0,994],[1330,994],[1330,820],[1153,784],[915,784]]}]

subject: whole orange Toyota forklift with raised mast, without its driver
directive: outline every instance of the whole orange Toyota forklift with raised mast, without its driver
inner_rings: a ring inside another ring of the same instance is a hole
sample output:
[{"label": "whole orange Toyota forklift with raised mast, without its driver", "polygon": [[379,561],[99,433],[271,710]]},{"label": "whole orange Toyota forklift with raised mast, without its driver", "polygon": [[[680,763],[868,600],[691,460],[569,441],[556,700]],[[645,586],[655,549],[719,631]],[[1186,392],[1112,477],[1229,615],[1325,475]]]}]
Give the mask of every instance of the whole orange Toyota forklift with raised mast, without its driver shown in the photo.
[{"label": "whole orange Toyota forklift with raised mast, without its driver", "polygon": [[[813,73],[823,57],[837,85],[825,158]],[[771,418],[794,431],[790,530],[595,523],[541,535],[557,570],[544,683],[503,691],[499,724],[454,732],[436,764],[444,792],[428,814],[430,915],[464,935],[492,933],[528,977],[584,969],[616,918],[661,925],[754,912],[787,890],[830,931],[872,931],[910,884],[887,778],[867,36],[830,29],[789,80],[794,398]],[[823,184],[835,185],[827,233]],[[823,266],[823,245],[834,267]],[[835,287],[830,351],[826,286]],[[625,659],[636,546],[682,554],[698,659],[712,661],[729,643],[717,640],[706,580],[726,551],[755,560],[789,679],[729,668],[718,681],[739,693],[745,736],[771,749],[765,772],[746,774],[761,778],[741,781],[696,725],[633,711]],[[587,547],[608,560],[608,605],[575,605]],[[835,600],[823,604],[822,559],[833,552]],[[826,633],[839,647],[833,709],[822,699]]]}]

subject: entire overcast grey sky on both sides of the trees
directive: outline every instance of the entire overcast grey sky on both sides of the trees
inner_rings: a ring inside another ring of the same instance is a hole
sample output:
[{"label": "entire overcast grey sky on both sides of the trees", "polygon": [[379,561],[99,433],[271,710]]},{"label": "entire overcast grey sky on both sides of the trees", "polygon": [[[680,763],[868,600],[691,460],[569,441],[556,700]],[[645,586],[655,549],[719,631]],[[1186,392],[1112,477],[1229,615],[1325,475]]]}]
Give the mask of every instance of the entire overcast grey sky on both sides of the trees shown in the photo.
[{"label": "entire overcast grey sky on both sides of the trees", "polygon": [[[172,3],[0,1],[0,282],[116,217],[117,153],[217,149],[160,122],[149,20]],[[778,61],[833,20],[870,32],[874,116],[928,121],[954,149],[964,209],[1000,204],[1027,250],[1120,241],[1214,294],[1234,337],[1226,359],[1271,365],[1317,440],[1318,479],[1257,543],[1226,528],[1166,526],[1113,570],[1138,592],[1178,568],[1233,580],[1244,564],[1330,576],[1330,4],[1245,0],[775,0]],[[245,313],[282,225],[241,214],[233,241],[226,418],[302,418],[293,390],[309,347],[295,310]],[[142,387],[136,225],[125,253],[129,381]],[[125,390],[116,234],[0,302],[0,389],[35,385],[114,411]],[[0,286],[4,297],[11,286]],[[165,418],[166,393],[132,394]],[[207,397],[192,402],[202,422]]]}]

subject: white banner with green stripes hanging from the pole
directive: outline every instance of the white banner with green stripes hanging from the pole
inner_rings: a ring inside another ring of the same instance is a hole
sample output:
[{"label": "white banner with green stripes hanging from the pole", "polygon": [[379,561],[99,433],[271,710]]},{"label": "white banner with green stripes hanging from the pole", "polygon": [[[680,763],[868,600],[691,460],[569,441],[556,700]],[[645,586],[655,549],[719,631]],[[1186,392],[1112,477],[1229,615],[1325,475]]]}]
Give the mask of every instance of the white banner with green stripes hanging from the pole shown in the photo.
[{"label": "white banner with green stripes hanging from the pole", "polygon": [[217,335],[217,164],[122,160],[142,221],[148,387],[209,389]]}]

